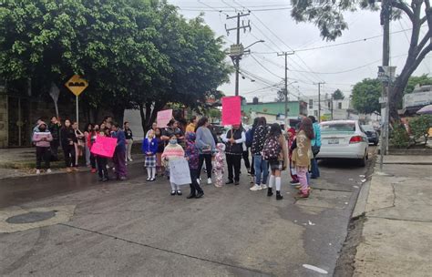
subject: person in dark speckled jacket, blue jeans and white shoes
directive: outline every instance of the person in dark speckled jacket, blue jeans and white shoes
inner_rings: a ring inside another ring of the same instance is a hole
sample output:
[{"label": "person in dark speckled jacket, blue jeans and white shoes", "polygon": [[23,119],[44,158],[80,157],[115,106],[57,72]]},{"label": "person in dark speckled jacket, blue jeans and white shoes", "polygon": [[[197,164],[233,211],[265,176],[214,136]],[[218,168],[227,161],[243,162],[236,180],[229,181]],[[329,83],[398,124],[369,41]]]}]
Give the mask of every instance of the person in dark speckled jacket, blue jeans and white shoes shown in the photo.
[{"label": "person in dark speckled jacket, blue jeans and white shoes", "polygon": [[262,159],[262,148],[264,147],[267,134],[267,121],[265,118],[259,118],[252,139],[252,159],[255,167],[255,184],[250,189],[252,191],[267,189],[266,183],[269,177],[269,164],[267,160]]}]

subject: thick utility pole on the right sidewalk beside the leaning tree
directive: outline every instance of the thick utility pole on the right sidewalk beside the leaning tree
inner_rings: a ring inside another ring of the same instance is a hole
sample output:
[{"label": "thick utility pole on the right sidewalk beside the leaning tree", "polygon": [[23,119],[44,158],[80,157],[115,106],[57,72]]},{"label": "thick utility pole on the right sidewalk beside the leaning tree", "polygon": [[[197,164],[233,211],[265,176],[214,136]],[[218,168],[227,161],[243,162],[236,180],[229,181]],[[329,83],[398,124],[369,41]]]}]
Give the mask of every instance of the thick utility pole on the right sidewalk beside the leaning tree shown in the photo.
[{"label": "thick utility pole on the right sidewalk beside the leaning tree", "polygon": [[[391,5],[389,0],[382,0],[381,3],[381,26],[383,26],[383,68],[388,67],[389,59],[390,59],[390,13],[391,13]],[[381,101],[381,134],[380,134],[380,158],[379,158],[379,169],[383,171],[383,159],[384,154],[386,154],[387,149],[387,138],[388,138],[388,85],[386,82],[383,82],[383,90],[382,90],[383,100]],[[384,114],[384,118],[383,118]]]}]

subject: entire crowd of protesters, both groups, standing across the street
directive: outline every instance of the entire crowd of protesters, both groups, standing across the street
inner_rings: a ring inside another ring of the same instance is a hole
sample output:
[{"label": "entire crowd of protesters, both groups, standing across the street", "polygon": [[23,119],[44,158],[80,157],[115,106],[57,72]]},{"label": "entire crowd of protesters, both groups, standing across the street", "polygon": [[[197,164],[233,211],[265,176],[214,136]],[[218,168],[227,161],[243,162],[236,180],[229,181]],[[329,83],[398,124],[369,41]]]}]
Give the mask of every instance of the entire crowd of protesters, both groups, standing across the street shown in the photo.
[{"label": "entire crowd of protesters, both groups, standing across the street", "polygon": [[[117,139],[112,158],[91,152],[99,137]],[[82,132],[77,122],[69,119],[63,125],[57,117],[52,117],[49,124],[39,119],[33,142],[36,145],[36,174],[41,173],[42,161],[45,161],[46,172],[51,172],[50,162],[59,159],[61,147],[67,172],[78,171],[79,160],[84,156],[90,172],[98,173],[98,180],[127,180],[127,162],[132,161],[134,142],[129,122],[119,126],[111,117],[106,117],[100,124],[87,124]],[[310,180],[320,177],[314,159],[320,147],[321,132],[314,117],[304,117],[297,128],[286,129],[277,123],[267,124],[265,118],[254,118],[252,128],[248,130],[242,124],[236,124],[226,133],[216,134],[208,118],[194,116],[189,124],[180,124],[174,118],[165,128],[153,123],[142,140],[141,150],[149,182],[161,176],[170,179],[170,161],[188,160],[191,179],[188,199],[204,195],[200,185],[204,165],[208,185],[239,185],[243,159],[252,179],[250,190],[267,190],[269,197],[274,191],[276,200],[282,200],[281,176],[286,169],[289,169],[290,183],[299,189],[298,197],[309,197]],[[109,176],[108,169],[114,171],[113,176]],[[170,187],[171,195],[182,195],[178,184],[170,182]]]}]

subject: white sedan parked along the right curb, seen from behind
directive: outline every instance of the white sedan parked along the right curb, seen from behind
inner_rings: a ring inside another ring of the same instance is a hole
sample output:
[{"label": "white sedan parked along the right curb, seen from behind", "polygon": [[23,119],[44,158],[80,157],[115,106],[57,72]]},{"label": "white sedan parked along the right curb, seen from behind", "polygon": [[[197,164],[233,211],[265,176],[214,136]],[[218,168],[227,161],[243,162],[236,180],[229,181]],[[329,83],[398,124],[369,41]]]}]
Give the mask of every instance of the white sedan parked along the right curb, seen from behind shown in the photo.
[{"label": "white sedan parked along the right curb, seen from behind", "polygon": [[317,159],[358,159],[365,166],[369,142],[357,120],[325,121],[320,126],[321,149]]}]

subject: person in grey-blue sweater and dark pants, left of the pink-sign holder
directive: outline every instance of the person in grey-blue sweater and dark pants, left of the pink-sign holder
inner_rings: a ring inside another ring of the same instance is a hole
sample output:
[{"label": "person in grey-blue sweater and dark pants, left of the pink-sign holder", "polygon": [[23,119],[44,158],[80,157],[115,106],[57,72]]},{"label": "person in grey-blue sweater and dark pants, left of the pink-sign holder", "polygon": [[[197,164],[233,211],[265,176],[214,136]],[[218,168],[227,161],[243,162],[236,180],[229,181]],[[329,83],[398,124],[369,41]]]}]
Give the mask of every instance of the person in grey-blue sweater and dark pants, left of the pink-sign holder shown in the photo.
[{"label": "person in grey-blue sweater and dark pants, left of the pink-sign holder", "polygon": [[207,184],[210,185],[212,170],[211,159],[213,157],[213,153],[216,151],[216,144],[209,128],[208,118],[204,117],[198,121],[196,134],[196,144],[200,151],[200,163],[198,165],[198,170],[201,173],[202,164],[205,160],[205,168],[207,169]]}]

